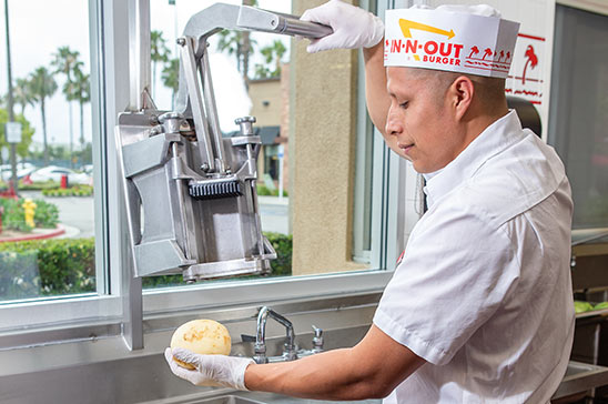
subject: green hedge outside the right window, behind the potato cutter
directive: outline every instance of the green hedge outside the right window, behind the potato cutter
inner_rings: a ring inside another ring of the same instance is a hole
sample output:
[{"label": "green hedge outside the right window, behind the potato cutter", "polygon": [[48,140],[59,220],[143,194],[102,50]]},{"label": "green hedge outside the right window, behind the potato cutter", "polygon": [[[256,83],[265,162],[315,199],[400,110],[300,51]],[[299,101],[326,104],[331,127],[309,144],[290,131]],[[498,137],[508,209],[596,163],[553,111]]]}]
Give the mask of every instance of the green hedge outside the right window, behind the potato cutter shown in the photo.
[{"label": "green hedge outside the right window, behind the potato cutter", "polygon": [[[270,276],[288,276],[292,274],[292,235],[264,232],[274,250],[276,251],[276,260],[271,261],[272,272]],[[250,279],[260,276],[249,276]],[[161,287],[185,284],[182,275],[162,275],[149,276],[142,281],[143,287]]]}]

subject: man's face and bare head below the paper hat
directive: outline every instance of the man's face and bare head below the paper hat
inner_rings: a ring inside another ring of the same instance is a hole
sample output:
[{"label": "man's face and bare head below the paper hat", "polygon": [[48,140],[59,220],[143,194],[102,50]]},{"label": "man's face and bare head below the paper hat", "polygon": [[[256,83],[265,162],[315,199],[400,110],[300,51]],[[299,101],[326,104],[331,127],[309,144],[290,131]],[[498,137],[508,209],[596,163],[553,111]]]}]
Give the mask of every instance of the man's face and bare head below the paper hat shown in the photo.
[{"label": "man's face and bare head below the paper hat", "polygon": [[401,67],[386,72],[385,140],[422,173],[443,169],[508,111],[504,79]]}]

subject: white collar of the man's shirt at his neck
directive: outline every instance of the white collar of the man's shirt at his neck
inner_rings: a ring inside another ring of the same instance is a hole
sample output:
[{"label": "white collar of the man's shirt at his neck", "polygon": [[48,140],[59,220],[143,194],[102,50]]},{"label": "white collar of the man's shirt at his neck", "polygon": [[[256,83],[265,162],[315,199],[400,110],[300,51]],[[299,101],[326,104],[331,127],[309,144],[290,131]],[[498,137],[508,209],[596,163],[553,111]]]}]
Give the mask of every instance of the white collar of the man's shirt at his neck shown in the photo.
[{"label": "white collar of the man's shirt at his neck", "polygon": [[424,174],[424,192],[428,206],[472,178],[487,160],[520,140],[523,135],[521,122],[514,110],[487,127],[446,166]]}]

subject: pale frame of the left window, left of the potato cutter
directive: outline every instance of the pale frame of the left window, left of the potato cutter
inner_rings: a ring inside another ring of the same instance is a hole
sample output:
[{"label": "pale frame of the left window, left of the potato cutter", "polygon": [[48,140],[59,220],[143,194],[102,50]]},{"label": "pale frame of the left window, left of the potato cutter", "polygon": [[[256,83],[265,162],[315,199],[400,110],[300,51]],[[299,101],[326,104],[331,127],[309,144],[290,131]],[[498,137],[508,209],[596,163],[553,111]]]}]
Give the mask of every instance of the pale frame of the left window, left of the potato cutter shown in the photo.
[{"label": "pale frame of the left window, left of the potato cutter", "polygon": [[[110,280],[116,279],[118,267],[110,273],[108,271],[108,257],[110,256],[108,246],[109,229],[104,225],[108,218],[109,206],[107,201],[108,176],[107,154],[108,125],[104,117],[112,111],[109,102],[107,88],[107,69],[110,63],[118,59],[114,55],[114,43],[109,43],[105,38],[114,38],[111,32],[121,26],[121,21],[104,24],[109,21],[105,18],[104,10],[120,7],[118,0],[89,0],[89,34],[90,34],[90,54],[91,54],[91,112],[93,129],[93,178],[94,178],[94,221],[95,221],[95,287],[97,293],[73,294],[61,296],[38,297],[22,301],[9,301],[0,303],[0,333],[13,333],[19,330],[30,330],[32,327],[48,327],[50,325],[60,326],[61,324],[73,324],[77,322],[109,321],[116,319],[122,314],[121,296],[118,287],[111,287]],[[109,7],[108,7],[109,6]],[[118,13],[120,16],[120,13]],[[124,14],[124,12],[122,13]],[[126,19],[124,18],[124,23]],[[109,59],[104,59],[104,55]],[[97,68],[97,69],[95,69]],[[93,79],[94,77],[94,79]],[[111,92],[110,92],[111,93]],[[112,118],[112,120],[115,118]],[[2,344],[0,343],[0,347]]]}]

